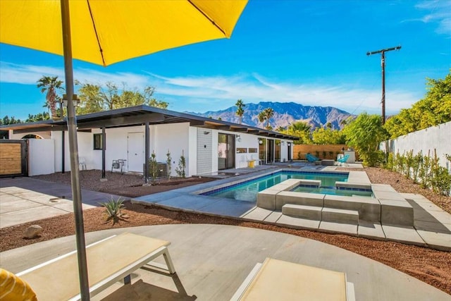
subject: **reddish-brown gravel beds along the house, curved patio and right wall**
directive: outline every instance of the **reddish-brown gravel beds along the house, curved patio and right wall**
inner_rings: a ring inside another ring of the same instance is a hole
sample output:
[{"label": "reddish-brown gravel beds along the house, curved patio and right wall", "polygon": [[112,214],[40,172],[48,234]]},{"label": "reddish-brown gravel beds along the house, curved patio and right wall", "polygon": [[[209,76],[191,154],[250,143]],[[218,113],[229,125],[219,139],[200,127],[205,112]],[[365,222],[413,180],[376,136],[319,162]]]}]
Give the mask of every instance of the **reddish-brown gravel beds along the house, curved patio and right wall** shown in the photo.
[{"label": "reddish-brown gravel beds along the house, curved patio and right wall", "polygon": [[[390,184],[393,185],[393,187],[399,192],[421,193],[439,207],[442,207],[446,211],[450,212],[450,197],[429,195],[428,190],[422,190],[417,187],[417,185],[409,183],[409,180],[398,175],[397,173],[385,171],[380,168],[365,168],[365,171],[368,173],[372,183]],[[48,176],[38,176],[37,178],[70,183],[70,175],[68,173],[64,175],[61,175],[60,173]],[[118,176],[116,174],[107,173],[107,178],[109,180],[103,183],[100,183],[98,178],[99,171],[82,171],[80,173],[82,188],[135,197],[137,195],[148,195],[164,190],[171,190],[178,187],[178,185],[192,185],[199,183],[199,181],[211,180],[210,178],[190,178],[190,180],[185,179],[185,181],[173,179],[173,183],[165,183],[168,185],[163,185],[164,181],[162,181],[160,185],[142,186],[143,180],[139,176]],[[152,190],[152,188],[154,188],[154,190]],[[156,189],[159,191],[155,191]],[[435,286],[435,288],[439,288],[440,290],[451,294],[451,252],[442,252],[424,247],[404,245],[399,242],[385,242],[381,240],[357,238],[343,234],[295,230],[280,226],[267,225],[264,223],[226,219],[216,216],[208,216],[205,214],[194,214],[185,211],[170,211],[154,205],[144,206],[141,204],[131,204],[130,202],[125,202],[125,206],[126,208],[123,210],[123,213],[127,214],[128,218],[118,221],[118,223],[115,224],[111,221],[105,221],[103,212],[104,209],[101,207],[83,211],[85,231],[90,232],[110,228],[173,223],[212,223],[244,226],[249,228],[261,228],[268,231],[278,231],[281,233],[288,233],[302,236],[304,238],[319,240],[330,245],[341,247],[345,250],[350,250],[383,264],[387,264],[394,269],[409,274],[410,276]],[[23,232],[27,226],[32,224],[39,224],[44,228],[42,236],[33,240],[25,240],[23,238]],[[2,238],[8,237],[8,240],[0,240],[0,250],[3,252],[5,250],[11,250],[23,245],[30,245],[35,242],[51,240],[73,234],[75,234],[73,214],[66,214],[32,223],[24,223],[18,226],[1,228],[0,236]]]}]

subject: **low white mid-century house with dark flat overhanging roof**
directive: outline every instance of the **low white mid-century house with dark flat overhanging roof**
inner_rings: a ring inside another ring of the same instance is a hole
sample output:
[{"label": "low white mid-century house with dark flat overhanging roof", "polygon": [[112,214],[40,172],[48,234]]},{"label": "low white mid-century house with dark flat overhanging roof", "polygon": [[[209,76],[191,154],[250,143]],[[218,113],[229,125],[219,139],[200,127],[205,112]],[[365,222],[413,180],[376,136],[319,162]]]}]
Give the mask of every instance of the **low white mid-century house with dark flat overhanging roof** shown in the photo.
[{"label": "low white mid-century house with dark flat overhanging roof", "polygon": [[[182,155],[186,176],[291,161],[292,144],[297,140],[261,128],[152,106],[77,116],[77,126],[80,169],[111,171],[113,161],[123,160],[123,172],[144,173],[153,152],[163,163],[169,152],[171,176],[177,176],[175,168]],[[70,171],[66,120],[3,125],[0,130],[9,130],[10,140],[22,140],[26,135],[42,138],[28,140],[28,176]]]}]

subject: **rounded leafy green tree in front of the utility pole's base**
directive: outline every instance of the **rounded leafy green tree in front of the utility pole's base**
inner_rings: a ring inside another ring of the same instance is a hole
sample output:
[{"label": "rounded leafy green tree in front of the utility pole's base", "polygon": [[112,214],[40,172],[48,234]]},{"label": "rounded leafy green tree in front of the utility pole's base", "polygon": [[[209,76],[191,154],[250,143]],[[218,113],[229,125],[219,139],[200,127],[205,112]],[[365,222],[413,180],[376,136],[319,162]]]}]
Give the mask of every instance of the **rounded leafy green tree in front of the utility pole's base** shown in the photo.
[{"label": "rounded leafy green tree in front of the utility pole's base", "polygon": [[381,116],[361,113],[345,126],[343,133],[346,144],[354,147],[365,165],[376,166],[382,161],[379,144],[388,138],[388,133],[383,128]]}]

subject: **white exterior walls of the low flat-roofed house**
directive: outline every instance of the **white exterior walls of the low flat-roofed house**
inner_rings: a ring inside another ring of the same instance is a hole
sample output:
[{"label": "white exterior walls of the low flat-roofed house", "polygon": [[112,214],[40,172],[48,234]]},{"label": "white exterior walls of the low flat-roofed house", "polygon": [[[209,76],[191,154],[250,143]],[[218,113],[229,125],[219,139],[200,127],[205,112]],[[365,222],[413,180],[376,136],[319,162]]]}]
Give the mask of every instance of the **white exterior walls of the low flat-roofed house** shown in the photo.
[{"label": "white exterior walls of the low flat-roofed house", "polygon": [[[259,164],[259,136],[247,134],[247,133],[237,133],[233,131],[226,130],[212,130],[212,129],[204,129],[199,130],[196,127],[190,127],[190,123],[169,123],[169,124],[161,124],[161,125],[150,125],[149,126],[149,153],[155,152],[156,160],[159,162],[166,162],[166,153],[171,153],[172,164],[171,164],[171,176],[177,176],[175,172],[175,168],[178,167],[178,161],[180,160],[180,156],[182,152],[185,156],[186,160],[186,168],[185,173],[186,176],[197,175],[197,139],[198,135],[204,135],[204,131],[208,131],[211,136],[211,156],[209,155],[209,160],[211,160],[211,171],[208,172],[216,172],[218,171],[218,134],[224,133],[229,135],[240,135],[240,139],[235,140],[235,147],[246,148],[246,153],[237,153],[235,152],[235,168],[244,168],[247,167],[249,160],[255,160],[254,164]],[[20,139],[27,133],[21,134],[12,134],[10,131],[11,139]],[[94,134],[101,134],[101,128],[93,129],[92,133],[89,132],[78,132],[78,155],[81,160],[85,161],[87,169],[97,169],[101,170],[102,168],[102,151],[101,149],[94,149]],[[106,129],[106,152],[105,152],[105,168],[106,171],[111,171],[111,164],[113,160],[117,159],[125,159],[125,165],[123,166],[123,171],[128,172],[128,149],[129,149],[129,133],[139,133],[138,135],[142,135],[144,145],[144,136],[145,136],[145,128],[144,125],[134,126],[134,127],[126,127],[126,128],[109,128]],[[200,133],[200,134],[199,134]],[[70,171],[70,150],[69,150],[69,139],[68,132],[64,132],[64,141],[65,141],[65,171]],[[137,135],[133,135],[135,138]],[[32,170],[30,172],[31,176],[35,176],[38,174],[45,173],[54,173],[61,172],[61,144],[62,144],[62,134],[61,131],[52,131],[49,135],[51,139],[45,139],[46,142],[52,145],[52,149],[47,149],[47,144],[45,144],[45,149],[41,147],[33,146],[30,149],[30,164],[34,164],[32,166]],[[276,138],[266,137],[268,140],[279,140]],[[48,140],[48,141],[47,141]],[[30,140],[35,141],[35,140]],[[39,141],[39,140],[36,140]],[[42,141],[42,140],[40,140]],[[135,141],[135,140],[134,140]],[[280,140],[284,143],[280,145],[280,160],[286,161],[288,160],[287,148],[288,142],[291,140]],[[202,147],[203,144],[199,142]],[[43,144],[43,145],[44,145]],[[249,153],[249,148],[257,149],[256,153]],[[142,164],[145,163],[144,152],[145,149],[142,147]],[[451,153],[451,152],[450,152]],[[41,156],[44,156],[47,161],[43,161]],[[201,154],[202,155],[202,154]],[[208,162],[202,162],[202,164],[206,164],[208,166]],[[114,170],[117,171],[117,170]],[[140,172],[142,172],[140,170]],[[208,173],[202,169],[203,173]]]}]

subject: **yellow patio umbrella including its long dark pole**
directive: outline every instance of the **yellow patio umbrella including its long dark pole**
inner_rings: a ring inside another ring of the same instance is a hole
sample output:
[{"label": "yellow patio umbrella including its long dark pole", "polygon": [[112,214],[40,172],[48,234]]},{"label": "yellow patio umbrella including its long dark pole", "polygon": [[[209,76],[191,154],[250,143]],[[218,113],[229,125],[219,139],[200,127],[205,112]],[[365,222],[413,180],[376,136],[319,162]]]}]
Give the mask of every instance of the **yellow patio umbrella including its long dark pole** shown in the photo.
[{"label": "yellow patio umbrella including its long dark pole", "polygon": [[0,0],[0,42],[64,56],[80,293],[89,300],[73,59],[102,66],[230,37],[247,0]]}]

